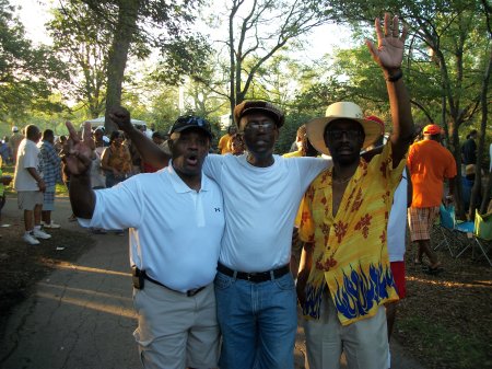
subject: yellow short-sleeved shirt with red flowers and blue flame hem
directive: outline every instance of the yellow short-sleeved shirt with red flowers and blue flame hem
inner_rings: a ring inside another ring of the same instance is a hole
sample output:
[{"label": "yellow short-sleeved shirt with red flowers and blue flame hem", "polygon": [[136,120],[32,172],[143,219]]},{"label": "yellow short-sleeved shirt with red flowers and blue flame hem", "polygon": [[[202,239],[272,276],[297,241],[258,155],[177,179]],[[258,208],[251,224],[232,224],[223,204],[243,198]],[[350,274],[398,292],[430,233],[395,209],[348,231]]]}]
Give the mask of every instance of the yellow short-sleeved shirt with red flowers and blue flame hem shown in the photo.
[{"label": "yellow short-sleeved shirt with red flowers and blue flame hem", "polygon": [[342,325],[373,316],[378,305],[398,300],[389,266],[386,232],[395,188],[406,160],[393,169],[391,145],[371,162],[361,159],[332,216],[332,169],[306,191],[300,235],[314,242],[306,284],[307,319],[319,319],[323,290],[328,290]]}]

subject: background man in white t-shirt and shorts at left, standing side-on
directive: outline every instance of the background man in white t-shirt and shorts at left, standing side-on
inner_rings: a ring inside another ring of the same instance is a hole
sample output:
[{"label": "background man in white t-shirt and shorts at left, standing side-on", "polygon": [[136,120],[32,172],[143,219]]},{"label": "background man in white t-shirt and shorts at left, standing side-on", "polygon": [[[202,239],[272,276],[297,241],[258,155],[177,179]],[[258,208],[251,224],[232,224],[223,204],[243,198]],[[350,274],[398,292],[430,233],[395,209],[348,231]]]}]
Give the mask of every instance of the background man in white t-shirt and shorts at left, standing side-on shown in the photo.
[{"label": "background man in white t-shirt and shorts at left, standing side-on", "polygon": [[46,184],[40,174],[39,149],[36,146],[40,139],[39,134],[39,128],[35,125],[25,127],[26,137],[19,145],[14,174],[19,209],[24,211],[25,232],[22,239],[31,245],[39,244],[39,239],[51,238],[40,229]]}]

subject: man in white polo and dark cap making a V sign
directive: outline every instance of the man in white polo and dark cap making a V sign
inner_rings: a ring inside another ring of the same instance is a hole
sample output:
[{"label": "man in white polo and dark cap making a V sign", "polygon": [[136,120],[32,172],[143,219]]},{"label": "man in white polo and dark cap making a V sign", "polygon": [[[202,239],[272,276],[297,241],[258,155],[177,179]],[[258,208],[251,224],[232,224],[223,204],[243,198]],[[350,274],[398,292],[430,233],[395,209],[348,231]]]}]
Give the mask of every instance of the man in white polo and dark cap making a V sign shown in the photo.
[{"label": "man in white polo and dark cap making a V sign", "polygon": [[[120,112],[130,119],[127,111]],[[220,330],[212,281],[224,209],[219,186],[201,170],[212,139],[210,124],[196,116],[179,117],[171,130],[168,166],[99,191],[91,188],[89,177],[94,145],[89,124],[83,140],[70,123],[67,127],[65,160],[79,222],[130,228],[139,321],[133,336],[143,367],[216,368]]]}]

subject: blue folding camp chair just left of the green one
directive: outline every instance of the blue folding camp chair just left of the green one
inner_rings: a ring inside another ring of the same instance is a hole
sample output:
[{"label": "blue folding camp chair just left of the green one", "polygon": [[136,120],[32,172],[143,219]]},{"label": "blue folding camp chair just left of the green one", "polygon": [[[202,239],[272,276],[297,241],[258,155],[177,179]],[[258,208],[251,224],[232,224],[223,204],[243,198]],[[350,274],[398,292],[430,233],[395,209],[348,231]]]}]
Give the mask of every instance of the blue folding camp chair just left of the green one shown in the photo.
[{"label": "blue folding camp chair just left of the green one", "polygon": [[[454,206],[440,206],[440,231],[442,234],[441,242],[434,246],[437,250],[442,246],[446,246],[449,254],[454,256],[454,250],[461,247],[459,255],[464,253],[465,250],[470,247],[471,234],[475,229],[475,224],[471,221],[456,221],[455,207]],[[458,257],[457,255],[456,257]]]}]

